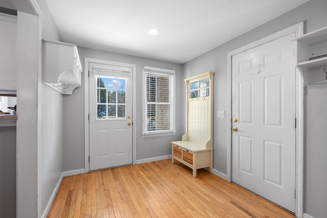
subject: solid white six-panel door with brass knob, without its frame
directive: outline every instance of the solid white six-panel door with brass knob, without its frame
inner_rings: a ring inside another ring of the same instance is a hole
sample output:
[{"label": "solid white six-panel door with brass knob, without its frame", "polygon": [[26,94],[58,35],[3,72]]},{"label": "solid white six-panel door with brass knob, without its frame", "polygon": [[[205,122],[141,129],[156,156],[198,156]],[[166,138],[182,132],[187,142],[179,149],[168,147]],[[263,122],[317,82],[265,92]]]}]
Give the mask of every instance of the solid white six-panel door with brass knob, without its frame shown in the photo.
[{"label": "solid white six-panel door with brass knob, without its frame", "polygon": [[232,181],[295,211],[295,33],[232,56]]}]

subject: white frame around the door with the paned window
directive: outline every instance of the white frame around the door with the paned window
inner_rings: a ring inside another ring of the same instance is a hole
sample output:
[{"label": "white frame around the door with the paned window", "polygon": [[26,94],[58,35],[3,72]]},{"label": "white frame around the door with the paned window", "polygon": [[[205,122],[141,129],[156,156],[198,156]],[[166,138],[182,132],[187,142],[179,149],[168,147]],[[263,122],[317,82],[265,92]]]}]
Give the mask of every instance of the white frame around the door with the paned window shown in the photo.
[{"label": "white frame around the door with the paned window", "polygon": [[84,58],[84,148],[85,148],[85,157],[84,157],[84,168],[85,173],[90,171],[89,169],[89,64],[108,64],[122,67],[132,68],[132,160],[133,163],[136,163],[136,65],[128,64],[122,62],[106,61],[93,58]]}]

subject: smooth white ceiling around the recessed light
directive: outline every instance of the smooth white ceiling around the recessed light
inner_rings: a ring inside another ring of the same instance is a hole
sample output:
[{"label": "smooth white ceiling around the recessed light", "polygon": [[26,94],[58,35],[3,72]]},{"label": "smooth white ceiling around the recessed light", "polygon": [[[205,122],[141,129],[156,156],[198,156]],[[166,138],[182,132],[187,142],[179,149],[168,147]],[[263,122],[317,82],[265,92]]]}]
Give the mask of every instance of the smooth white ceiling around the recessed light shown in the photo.
[{"label": "smooth white ceiling around the recessed light", "polygon": [[[46,0],[64,42],[187,62],[308,0]],[[149,36],[148,29],[160,31]]]}]

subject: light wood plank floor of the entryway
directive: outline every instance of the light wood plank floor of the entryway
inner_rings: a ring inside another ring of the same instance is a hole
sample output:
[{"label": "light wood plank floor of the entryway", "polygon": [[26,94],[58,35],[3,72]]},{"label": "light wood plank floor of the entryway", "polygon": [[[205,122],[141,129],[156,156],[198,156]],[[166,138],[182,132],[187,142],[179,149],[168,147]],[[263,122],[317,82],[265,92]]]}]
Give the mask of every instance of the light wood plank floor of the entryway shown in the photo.
[{"label": "light wood plank floor of the entryway", "polygon": [[295,217],[204,169],[171,160],[65,177],[48,217]]}]

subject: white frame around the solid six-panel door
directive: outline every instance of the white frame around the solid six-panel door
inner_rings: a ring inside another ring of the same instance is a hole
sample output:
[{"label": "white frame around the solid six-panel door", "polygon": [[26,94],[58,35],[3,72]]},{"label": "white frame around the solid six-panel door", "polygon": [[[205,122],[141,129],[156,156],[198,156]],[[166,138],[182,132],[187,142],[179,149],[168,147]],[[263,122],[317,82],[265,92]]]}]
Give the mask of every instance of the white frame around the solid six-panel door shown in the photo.
[{"label": "white frame around the solid six-panel door", "polygon": [[[227,175],[226,180],[231,182],[231,164],[232,164],[232,153],[231,153],[231,64],[232,56],[245,52],[253,47],[260,46],[267,42],[281,38],[291,33],[296,33],[296,37],[303,35],[303,22],[297,23],[289,28],[282,31],[249,43],[240,47],[239,49],[233,50],[227,54]],[[294,42],[294,52],[296,52],[296,44]],[[295,57],[297,63],[297,57]],[[295,130],[295,215],[296,217],[302,218],[303,215],[303,75],[296,68],[296,130]]]}]

